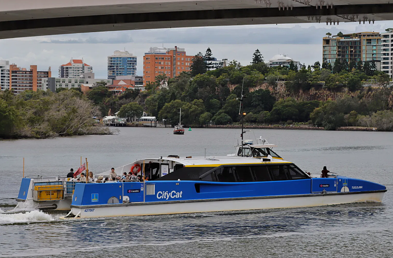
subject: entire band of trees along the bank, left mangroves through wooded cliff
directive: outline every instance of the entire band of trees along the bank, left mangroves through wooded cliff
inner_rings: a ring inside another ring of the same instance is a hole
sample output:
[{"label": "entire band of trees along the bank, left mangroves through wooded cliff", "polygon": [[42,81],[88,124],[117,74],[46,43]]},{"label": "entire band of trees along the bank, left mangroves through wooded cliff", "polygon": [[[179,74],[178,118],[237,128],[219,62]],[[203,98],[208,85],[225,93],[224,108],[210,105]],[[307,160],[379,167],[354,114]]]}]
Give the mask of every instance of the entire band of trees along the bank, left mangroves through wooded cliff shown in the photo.
[{"label": "entire band of trees along the bank, left mangroves through wooded cliff", "polygon": [[[121,117],[138,117],[144,110],[174,125],[182,108],[182,123],[186,126],[239,123],[242,88],[246,123],[309,124],[326,130],[366,126],[393,131],[390,79],[377,71],[373,62],[336,61],[334,68],[319,62],[300,69],[293,62],[288,67],[267,67],[257,50],[249,65],[233,60],[226,67],[206,71],[209,55],[211,52],[198,53],[189,73],[170,79],[156,76],[154,82],[146,84],[144,92],[128,89],[120,96],[112,96],[104,85],[99,85],[86,96],[64,89],[58,89],[56,94],[2,93],[0,135],[40,138],[89,133],[95,128],[92,116],[117,111]],[[168,80],[168,87],[159,87],[164,80]],[[367,80],[380,87],[363,87]],[[79,116],[84,119],[75,118]]]}]

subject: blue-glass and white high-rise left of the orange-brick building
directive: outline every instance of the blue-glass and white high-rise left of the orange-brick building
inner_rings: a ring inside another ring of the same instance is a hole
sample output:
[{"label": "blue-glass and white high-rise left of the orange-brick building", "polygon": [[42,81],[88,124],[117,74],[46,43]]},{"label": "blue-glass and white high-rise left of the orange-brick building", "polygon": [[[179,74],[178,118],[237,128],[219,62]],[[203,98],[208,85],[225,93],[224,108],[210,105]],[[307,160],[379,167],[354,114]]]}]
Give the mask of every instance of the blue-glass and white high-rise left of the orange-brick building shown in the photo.
[{"label": "blue-glass and white high-rise left of the orange-brick building", "polygon": [[126,75],[137,75],[137,57],[128,51],[116,50],[108,56],[108,79]]}]

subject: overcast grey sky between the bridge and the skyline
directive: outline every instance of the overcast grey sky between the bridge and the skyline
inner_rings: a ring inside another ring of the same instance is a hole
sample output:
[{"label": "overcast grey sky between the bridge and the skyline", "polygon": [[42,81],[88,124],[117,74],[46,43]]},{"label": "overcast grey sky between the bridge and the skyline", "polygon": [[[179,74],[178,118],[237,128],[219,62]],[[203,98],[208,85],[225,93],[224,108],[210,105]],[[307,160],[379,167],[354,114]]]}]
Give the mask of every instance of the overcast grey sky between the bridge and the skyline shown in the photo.
[{"label": "overcast grey sky between the bridge and the skyline", "polygon": [[353,33],[361,31],[385,32],[393,21],[375,24],[341,23],[245,25],[227,27],[174,28],[97,32],[0,40],[0,59],[21,67],[37,64],[39,69],[52,69],[58,77],[58,67],[71,57],[84,59],[93,66],[96,78],[107,77],[107,56],[115,50],[127,50],[138,57],[137,72],[143,75],[145,52],[150,47],[185,48],[187,54],[206,52],[210,47],[217,59],[238,60],[247,65],[256,49],[267,61],[275,54],[287,54],[301,63],[322,61],[322,38],[327,32]]}]

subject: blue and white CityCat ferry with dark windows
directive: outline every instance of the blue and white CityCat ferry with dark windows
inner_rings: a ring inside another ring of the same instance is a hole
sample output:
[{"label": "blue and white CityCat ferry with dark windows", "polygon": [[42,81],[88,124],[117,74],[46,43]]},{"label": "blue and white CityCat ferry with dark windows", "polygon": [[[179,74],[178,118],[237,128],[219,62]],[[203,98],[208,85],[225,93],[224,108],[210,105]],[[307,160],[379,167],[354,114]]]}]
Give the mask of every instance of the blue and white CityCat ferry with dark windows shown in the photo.
[{"label": "blue and white CityCat ferry with dark windows", "polygon": [[[72,182],[60,178],[47,183],[43,179],[35,183],[35,178],[24,178],[18,201],[28,201],[24,198],[28,196],[38,206],[71,209],[67,216],[85,218],[382,202],[387,191],[383,185],[335,173],[328,178],[311,176],[273,152],[274,145],[258,140],[262,143],[246,142],[238,146],[233,155],[170,155],[138,160],[115,169],[122,174],[141,166],[139,174],[149,178],[144,182],[70,186]],[[107,177],[109,171],[101,175]],[[39,191],[53,186],[60,190],[49,190],[49,195],[44,196],[62,200],[37,201]],[[67,198],[61,196],[67,193]]]}]

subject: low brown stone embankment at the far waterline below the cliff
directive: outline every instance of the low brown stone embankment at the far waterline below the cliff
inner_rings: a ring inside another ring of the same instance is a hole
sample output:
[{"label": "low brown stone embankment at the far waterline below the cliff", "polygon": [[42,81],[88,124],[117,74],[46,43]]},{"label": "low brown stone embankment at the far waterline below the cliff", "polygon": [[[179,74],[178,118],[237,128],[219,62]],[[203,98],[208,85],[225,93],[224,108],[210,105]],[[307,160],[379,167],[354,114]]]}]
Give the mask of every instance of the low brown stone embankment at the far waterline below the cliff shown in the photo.
[{"label": "low brown stone embankment at the far waterline below the cliff", "polygon": [[[242,128],[242,125],[207,125],[205,128]],[[311,125],[244,125],[245,129],[280,129],[280,130],[325,130],[323,127],[316,127]],[[358,127],[358,126],[346,126],[339,127],[336,131],[377,131],[374,127]]]}]

